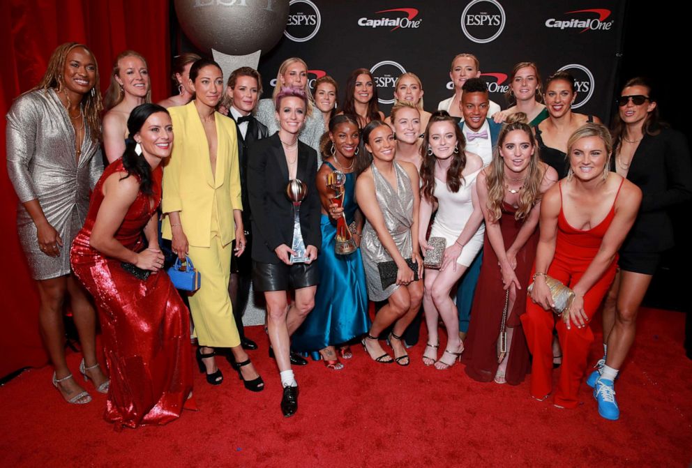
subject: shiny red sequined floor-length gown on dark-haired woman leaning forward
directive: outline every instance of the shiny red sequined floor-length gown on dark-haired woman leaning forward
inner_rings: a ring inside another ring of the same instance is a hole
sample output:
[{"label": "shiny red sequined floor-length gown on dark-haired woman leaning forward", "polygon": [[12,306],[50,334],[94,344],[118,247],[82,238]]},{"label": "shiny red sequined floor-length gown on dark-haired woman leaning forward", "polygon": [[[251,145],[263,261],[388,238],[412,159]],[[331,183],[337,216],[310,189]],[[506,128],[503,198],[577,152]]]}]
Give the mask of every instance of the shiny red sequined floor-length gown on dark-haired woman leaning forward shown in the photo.
[{"label": "shiny red sequined floor-length gown on dark-haired woman leaning forward", "polygon": [[[192,391],[188,311],[165,271],[138,280],[121,261],[89,246],[104,181],[123,173],[122,160],[109,165],[91,195],[84,227],[72,244],[73,271],[96,301],[110,371],[105,419],[129,428],[178,418]],[[143,229],[161,202],[161,167],[153,170],[153,196],[137,194],[115,239],[130,250],[144,248]]]}]

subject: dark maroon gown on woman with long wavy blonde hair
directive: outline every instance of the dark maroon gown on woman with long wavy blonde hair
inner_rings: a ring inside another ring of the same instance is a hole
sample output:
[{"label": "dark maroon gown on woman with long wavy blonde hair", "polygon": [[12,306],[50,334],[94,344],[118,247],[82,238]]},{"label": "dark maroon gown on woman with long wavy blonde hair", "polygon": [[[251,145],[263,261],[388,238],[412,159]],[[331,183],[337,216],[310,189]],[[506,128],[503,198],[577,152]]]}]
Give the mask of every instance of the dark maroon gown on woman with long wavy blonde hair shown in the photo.
[{"label": "dark maroon gown on woman with long wavy blonde hair", "polygon": [[[514,219],[516,209],[502,202],[502,217],[499,227],[502,231],[504,248],[509,248],[524,225],[523,220]],[[512,342],[509,348],[509,361],[505,379],[508,384],[518,385],[524,381],[531,365],[529,348],[521,327],[519,317],[526,312],[526,288],[531,279],[531,269],[536,257],[539,241],[539,229],[535,229],[528,241],[517,253],[515,273],[521,285],[517,289],[517,298],[507,315],[507,326],[513,327]],[[466,373],[474,380],[490,382],[497,372],[497,338],[502,324],[502,311],[506,292],[502,287],[502,273],[497,264],[497,255],[488,240],[488,229],[483,239],[483,265],[479,275],[474,303],[471,310],[469,333],[464,341],[462,362],[466,364]]]}]

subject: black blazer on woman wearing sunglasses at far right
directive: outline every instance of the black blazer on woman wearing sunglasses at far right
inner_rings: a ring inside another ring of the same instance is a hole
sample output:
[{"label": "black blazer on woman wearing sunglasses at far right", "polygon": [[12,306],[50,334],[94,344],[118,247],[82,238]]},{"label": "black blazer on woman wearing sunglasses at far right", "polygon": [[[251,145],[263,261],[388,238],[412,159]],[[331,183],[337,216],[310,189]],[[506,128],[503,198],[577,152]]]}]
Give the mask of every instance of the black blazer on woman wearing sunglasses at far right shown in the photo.
[{"label": "black blazer on woman wearing sunglasses at far right", "polygon": [[[615,171],[615,157],[610,167]],[[692,199],[692,162],[685,136],[672,128],[645,135],[634,153],[627,180],[642,190],[642,206],[622,250],[662,252],[671,248],[675,239],[667,210]]]}]

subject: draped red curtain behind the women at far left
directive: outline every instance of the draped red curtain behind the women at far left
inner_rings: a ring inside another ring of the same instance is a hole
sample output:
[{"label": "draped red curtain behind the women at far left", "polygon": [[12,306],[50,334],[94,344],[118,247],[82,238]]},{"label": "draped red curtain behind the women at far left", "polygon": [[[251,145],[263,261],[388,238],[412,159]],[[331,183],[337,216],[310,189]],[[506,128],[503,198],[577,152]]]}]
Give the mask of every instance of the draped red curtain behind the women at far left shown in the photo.
[{"label": "draped red curtain behind the women at far left", "polygon": [[[154,102],[170,95],[168,0],[11,0],[0,1],[0,112],[36,86],[57,45],[86,44],[99,66],[100,87],[110,82],[112,63],[126,49],[149,64]],[[29,275],[15,225],[17,197],[7,176],[5,119],[0,148],[0,377],[47,363],[38,331],[38,292]]]}]

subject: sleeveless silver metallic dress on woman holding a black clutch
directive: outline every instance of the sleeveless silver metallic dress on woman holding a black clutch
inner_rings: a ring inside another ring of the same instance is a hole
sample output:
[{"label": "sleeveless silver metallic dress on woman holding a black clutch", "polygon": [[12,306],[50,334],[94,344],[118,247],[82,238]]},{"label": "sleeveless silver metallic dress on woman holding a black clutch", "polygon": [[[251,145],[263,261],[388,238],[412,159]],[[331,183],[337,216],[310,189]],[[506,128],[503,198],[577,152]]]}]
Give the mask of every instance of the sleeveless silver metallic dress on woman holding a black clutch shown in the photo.
[{"label": "sleeveless silver metallic dress on woman holding a black clutch", "polygon": [[[396,189],[389,185],[379,173],[375,164],[370,165],[375,181],[375,197],[377,204],[384,216],[389,234],[391,234],[396,248],[404,258],[412,255],[411,226],[413,225],[413,192],[411,179],[406,171],[394,162],[396,174]],[[370,301],[384,301],[396,291],[398,286],[391,285],[382,289],[382,281],[379,279],[377,264],[391,262],[391,255],[386,251],[377,237],[375,228],[366,220],[361,239],[361,255],[363,255],[363,267],[366,271],[368,283],[368,297]]]}]

